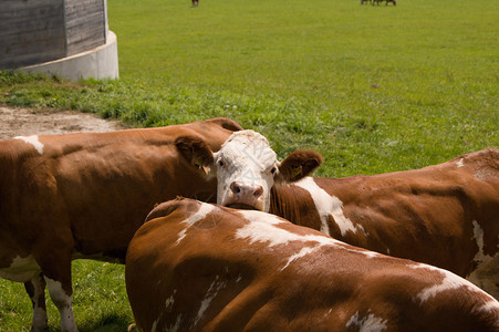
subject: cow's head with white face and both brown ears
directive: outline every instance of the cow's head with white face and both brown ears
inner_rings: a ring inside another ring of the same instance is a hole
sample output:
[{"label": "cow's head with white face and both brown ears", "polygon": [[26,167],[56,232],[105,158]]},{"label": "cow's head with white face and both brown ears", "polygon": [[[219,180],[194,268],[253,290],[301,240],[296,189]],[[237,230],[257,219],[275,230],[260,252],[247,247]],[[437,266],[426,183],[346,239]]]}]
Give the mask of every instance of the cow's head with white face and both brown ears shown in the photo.
[{"label": "cow's head with white face and both brown ears", "polygon": [[267,138],[253,131],[233,133],[217,153],[190,136],[177,138],[176,146],[194,167],[217,177],[219,205],[262,211],[270,209],[276,183],[297,181],[322,163],[311,151],[293,152],[279,163]]}]

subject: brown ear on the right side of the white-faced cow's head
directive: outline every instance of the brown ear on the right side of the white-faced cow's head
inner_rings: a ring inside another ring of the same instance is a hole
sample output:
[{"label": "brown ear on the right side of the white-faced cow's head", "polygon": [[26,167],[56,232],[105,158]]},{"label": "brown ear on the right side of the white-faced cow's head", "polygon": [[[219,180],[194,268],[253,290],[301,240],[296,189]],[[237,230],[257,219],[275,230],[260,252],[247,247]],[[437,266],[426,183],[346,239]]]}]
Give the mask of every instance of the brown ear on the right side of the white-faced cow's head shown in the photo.
[{"label": "brown ear on the right side of the white-faced cow's head", "polygon": [[279,166],[276,178],[280,183],[292,183],[311,174],[322,164],[322,156],[313,151],[295,151],[291,153]]}]

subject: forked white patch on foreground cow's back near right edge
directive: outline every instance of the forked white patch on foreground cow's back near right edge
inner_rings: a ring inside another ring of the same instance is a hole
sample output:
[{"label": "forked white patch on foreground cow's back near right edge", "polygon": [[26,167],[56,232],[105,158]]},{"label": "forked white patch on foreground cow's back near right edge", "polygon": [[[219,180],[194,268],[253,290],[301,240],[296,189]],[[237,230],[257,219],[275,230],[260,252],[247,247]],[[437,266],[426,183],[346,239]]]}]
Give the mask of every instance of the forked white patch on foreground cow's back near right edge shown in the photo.
[{"label": "forked white patch on foreground cow's back near right edge", "polygon": [[422,303],[426,302],[430,298],[434,298],[434,297],[438,295],[441,292],[449,291],[449,290],[456,290],[456,289],[459,289],[459,288],[467,288],[469,291],[485,294],[488,300],[493,300],[492,297],[490,297],[489,294],[484,292],[481,289],[479,289],[478,287],[476,287],[471,282],[469,282],[468,280],[465,280],[461,277],[456,276],[453,272],[449,272],[447,270],[444,270],[444,269],[440,269],[440,268],[436,268],[436,267],[433,267],[433,266],[428,266],[428,264],[424,264],[424,263],[410,264],[409,267],[413,268],[413,269],[427,269],[427,270],[430,270],[430,271],[439,272],[441,274],[441,277],[444,277],[444,279],[441,280],[440,283],[427,287],[427,288],[423,289],[416,295],[417,299]]}]

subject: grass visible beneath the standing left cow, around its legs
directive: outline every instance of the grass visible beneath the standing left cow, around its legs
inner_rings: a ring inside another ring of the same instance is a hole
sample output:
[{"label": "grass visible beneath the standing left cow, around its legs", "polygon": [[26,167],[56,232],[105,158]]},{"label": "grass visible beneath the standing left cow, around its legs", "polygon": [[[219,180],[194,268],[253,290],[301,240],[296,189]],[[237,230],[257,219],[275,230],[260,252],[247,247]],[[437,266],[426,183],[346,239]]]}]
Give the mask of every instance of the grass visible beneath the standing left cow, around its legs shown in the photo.
[{"label": "grass visible beneath the standing left cow, around its legs", "polygon": [[[123,332],[133,323],[124,266],[73,261],[73,312],[81,332]],[[29,331],[32,307],[24,287],[0,279],[0,331]],[[46,295],[49,332],[60,331],[59,311]]]}]

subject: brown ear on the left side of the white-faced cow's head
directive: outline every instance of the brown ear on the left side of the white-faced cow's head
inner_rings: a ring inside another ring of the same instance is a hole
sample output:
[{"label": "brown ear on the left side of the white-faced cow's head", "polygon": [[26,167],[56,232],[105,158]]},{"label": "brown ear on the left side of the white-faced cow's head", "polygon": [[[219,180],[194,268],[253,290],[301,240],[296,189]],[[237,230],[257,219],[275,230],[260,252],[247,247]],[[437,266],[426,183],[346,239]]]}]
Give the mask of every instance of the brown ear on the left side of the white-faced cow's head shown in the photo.
[{"label": "brown ear on the left side of the white-faced cow's head", "polygon": [[187,163],[209,175],[214,153],[205,141],[195,136],[180,136],[175,139],[175,146]]}]

